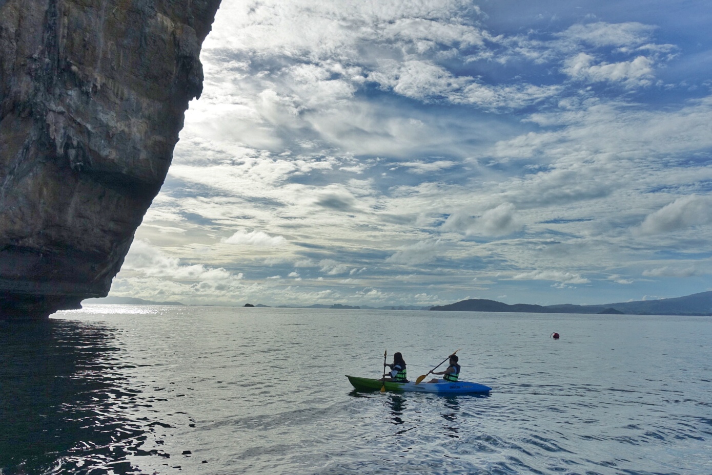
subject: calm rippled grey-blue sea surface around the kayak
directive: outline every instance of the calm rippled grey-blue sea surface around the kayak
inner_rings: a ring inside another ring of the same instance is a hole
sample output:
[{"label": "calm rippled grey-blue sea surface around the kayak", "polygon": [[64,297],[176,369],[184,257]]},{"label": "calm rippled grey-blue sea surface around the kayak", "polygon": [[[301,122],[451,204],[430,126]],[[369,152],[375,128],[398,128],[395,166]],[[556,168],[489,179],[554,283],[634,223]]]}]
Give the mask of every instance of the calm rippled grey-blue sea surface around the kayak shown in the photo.
[{"label": "calm rippled grey-blue sea surface around the kayak", "polygon": [[[711,343],[710,317],[88,306],[0,323],[0,474],[710,475]],[[344,377],[458,348],[490,395]]]}]

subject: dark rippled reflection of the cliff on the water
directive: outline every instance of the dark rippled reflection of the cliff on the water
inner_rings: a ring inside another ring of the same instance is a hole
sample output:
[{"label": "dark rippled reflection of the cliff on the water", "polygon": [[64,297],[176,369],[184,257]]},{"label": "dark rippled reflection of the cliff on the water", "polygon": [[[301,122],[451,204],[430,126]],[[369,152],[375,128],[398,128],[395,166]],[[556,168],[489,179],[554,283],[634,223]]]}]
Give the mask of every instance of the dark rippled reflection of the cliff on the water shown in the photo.
[{"label": "dark rippled reflection of the cliff on the water", "polygon": [[0,329],[0,473],[131,471],[152,425],[122,370],[114,329],[49,320]]}]

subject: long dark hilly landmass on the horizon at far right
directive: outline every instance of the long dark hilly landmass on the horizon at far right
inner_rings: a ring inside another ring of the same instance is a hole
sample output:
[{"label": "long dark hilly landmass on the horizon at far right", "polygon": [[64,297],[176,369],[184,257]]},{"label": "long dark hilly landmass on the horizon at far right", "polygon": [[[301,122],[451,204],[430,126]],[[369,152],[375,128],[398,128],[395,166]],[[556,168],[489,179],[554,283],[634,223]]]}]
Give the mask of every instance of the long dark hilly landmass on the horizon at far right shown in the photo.
[{"label": "long dark hilly landmass on the horizon at far right", "polygon": [[500,301],[469,299],[454,304],[433,306],[431,310],[510,311],[548,314],[621,314],[621,315],[712,315],[712,291],[673,299],[626,301],[603,305],[530,305],[503,304]]}]

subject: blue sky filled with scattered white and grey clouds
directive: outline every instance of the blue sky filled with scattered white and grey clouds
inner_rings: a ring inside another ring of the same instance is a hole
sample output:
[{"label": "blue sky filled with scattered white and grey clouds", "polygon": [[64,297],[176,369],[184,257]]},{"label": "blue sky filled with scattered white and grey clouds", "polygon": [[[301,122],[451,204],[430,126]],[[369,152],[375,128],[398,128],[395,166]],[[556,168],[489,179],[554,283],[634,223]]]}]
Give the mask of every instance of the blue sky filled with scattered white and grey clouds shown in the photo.
[{"label": "blue sky filled with scattered white and grey clouds", "polygon": [[224,0],[110,295],[380,307],[711,290],[711,12]]}]

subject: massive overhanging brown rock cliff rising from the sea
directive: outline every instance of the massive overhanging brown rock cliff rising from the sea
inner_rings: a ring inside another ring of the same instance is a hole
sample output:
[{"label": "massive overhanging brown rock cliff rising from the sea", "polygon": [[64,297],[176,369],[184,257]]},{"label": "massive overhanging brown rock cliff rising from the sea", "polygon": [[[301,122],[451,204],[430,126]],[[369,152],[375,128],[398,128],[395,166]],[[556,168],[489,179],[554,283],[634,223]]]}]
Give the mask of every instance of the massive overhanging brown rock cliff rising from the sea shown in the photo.
[{"label": "massive overhanging brown rock cliff rising from the sea", "polygon": [[220,0],[0,0],[0,319],[105,296]]}]

